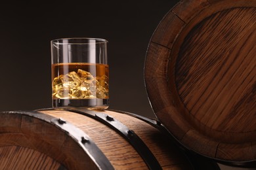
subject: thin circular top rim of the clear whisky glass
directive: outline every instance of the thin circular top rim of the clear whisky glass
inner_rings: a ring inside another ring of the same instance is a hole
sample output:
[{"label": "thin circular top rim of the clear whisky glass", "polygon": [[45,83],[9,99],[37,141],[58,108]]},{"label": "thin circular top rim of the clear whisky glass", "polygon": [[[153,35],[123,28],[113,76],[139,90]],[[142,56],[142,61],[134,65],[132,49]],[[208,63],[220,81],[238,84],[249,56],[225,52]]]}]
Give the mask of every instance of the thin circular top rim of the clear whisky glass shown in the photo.
[{"label": "thin circular top rim of the clear whisky glass", "polygon": [[[72,41],[77,40],[81,42],[58,42],[58,41]],[[95,42],[88,42],[89,40],[95,40]],[[83,42],[87,41],[87,42]],[[88,38],[88,37],[74,37],[74,38],[61,38],[61,39],[53,39],[51,40],[52,44],[101,44],[108,42],[106,39],[100,39],[100,38]]]}]

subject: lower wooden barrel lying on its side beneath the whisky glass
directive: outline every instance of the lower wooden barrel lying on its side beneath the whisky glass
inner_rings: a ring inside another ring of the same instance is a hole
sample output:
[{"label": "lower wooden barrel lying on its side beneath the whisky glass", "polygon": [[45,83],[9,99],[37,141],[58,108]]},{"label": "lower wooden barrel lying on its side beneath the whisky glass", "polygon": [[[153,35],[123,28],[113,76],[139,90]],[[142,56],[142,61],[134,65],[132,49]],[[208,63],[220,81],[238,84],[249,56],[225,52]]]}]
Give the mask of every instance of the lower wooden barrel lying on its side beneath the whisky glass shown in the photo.
[{"label": "lower wooden barrel lying on its side beneath the whisky glass", "polygon": [[0,169],[196,169],[200,164],[219,169],[191,161],[160,123],[137,114],[77,108],[0,113]]}]

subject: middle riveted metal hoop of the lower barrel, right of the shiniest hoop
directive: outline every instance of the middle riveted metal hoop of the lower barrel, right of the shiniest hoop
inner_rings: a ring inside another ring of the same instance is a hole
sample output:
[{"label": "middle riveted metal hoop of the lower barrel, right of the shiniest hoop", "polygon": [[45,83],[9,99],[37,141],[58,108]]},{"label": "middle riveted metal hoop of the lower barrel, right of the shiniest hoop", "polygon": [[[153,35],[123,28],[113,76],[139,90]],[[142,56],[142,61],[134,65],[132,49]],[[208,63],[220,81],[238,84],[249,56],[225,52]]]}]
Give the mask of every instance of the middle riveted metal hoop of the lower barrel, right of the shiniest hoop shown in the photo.
[{"label": "middle riveted metal hoop of the lower barrel, right of the shiniest hoop", "polygon": [[79,107],[59,107],[54,108],[54,110],[69,110],[72,112],[77,112],[79,114],[83,114],[85,116],[89,116],[102,122],[108,127],[114,129],[119,135],[122,135],[130,144],[135,148],[141,158],[144,160],[149,169],[162,169],[158,160],[156,160],[155,156],[149,150],[148,146],[140,139],[140,137],[131,129],[129,129],[124,124],[121,124],[118,120],[113,118],[108,114],[104,114],[102,112],[97,112],[96,110],[88,110]]}]

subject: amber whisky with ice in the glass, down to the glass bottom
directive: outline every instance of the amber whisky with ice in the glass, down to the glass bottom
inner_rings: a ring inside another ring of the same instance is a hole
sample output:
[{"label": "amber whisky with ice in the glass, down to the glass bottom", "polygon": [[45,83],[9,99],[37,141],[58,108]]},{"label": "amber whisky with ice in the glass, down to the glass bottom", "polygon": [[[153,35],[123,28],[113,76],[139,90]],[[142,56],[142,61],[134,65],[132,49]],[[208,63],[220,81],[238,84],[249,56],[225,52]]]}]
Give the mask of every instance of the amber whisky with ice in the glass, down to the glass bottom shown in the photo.
[{"label": "amber whisky with ice in the glass, down to the glass bottom", "polygon": [[108,108],[108,76],[106,64],[53,64],[53,107]]}]

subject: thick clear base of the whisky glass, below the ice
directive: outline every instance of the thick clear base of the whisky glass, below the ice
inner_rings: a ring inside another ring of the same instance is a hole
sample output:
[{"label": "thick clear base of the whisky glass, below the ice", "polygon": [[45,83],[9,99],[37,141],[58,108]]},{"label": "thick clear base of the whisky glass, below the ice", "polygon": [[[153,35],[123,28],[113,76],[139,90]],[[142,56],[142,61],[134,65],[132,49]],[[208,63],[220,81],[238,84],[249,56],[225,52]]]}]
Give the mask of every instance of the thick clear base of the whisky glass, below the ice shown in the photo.
[{"label": "thick clear base of the whisky glass, below the ice", "polygon": [[109,99],[53,99],[53,107],[84,107],[86,109],[108,109]]}]

